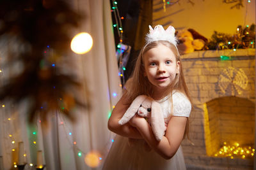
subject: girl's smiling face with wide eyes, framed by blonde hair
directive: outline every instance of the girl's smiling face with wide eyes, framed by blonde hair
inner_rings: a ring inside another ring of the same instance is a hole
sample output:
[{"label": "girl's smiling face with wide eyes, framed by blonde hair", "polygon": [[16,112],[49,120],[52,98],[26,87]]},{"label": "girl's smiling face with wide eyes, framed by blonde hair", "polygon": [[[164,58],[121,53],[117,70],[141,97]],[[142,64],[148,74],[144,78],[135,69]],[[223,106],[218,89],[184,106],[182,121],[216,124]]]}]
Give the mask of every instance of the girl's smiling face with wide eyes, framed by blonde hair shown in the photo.
[{"label": "girl's smiling face with wide eyes, framed by blonde hair", "polygon": [[158,45],[156,48],[151,48],[144,53],[143,61],[144,75],[156,91],[168,87],[179,73],[180,62],[176,61],[174,53],[167,46]]}]

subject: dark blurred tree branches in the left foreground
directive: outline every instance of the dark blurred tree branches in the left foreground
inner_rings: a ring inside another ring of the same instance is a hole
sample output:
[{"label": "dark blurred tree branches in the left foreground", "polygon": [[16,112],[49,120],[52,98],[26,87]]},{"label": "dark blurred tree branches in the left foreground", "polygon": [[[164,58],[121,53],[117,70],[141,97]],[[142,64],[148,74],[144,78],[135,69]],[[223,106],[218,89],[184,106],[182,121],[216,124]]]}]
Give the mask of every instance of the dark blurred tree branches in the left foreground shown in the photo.
[{"label": "dark blurred tree branches in the left foreground", "polygon": [[60,0],[6,0],[0,6],[0,40],[5,41],[0,48],[19,47],[5,54],[4,68],[12,70],[17,62],[22,64],[18,73],[4,81],[0,100],[14,105],[28,101],[30,121],[39,113],[46,125],[47,115],[56,111],[73,120],[72,108],[88,104],[76,97],[81,88],[76,77],[58,63],[70,53],[70,30],[81,17]]}]

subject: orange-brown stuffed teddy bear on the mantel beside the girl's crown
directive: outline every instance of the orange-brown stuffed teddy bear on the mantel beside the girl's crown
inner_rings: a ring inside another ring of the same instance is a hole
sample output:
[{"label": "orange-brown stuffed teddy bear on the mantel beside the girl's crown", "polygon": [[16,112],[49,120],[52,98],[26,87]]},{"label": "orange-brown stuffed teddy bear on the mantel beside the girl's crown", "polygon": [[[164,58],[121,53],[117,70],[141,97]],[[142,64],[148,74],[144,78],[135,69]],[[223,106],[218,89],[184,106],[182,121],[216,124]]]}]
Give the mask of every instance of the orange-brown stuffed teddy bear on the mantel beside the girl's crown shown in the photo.
[{"label": "orange-brown stuffed teddy bear on the mantel beside the girl's crown", "polygon": [[194,29],[183,29],[177,32],[179,39],[178,49],[180,54],[191,53],[202,50],[208,39],[196,32]]}]

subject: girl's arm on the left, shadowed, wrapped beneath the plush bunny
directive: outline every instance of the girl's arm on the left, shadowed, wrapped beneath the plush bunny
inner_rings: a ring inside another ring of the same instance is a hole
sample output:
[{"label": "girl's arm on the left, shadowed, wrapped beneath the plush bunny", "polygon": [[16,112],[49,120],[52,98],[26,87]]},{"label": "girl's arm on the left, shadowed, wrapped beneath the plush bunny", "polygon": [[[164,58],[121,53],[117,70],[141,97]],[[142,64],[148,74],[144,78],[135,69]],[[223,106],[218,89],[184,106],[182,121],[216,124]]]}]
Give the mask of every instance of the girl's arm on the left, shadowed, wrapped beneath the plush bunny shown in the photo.
[{"label": "girl's arm on the left, shadowed, wrapped beneath the plush bunny", "polygon": [[124,125],[118,124],[118,121],[123,117],[130,104],[131,103],[127,101],[125,92],[111,113],[111,117],[108,120],[108,129],[127,138],[142,139],[140,132],[138,132],[136,127],[132,127],[129,122]]}]

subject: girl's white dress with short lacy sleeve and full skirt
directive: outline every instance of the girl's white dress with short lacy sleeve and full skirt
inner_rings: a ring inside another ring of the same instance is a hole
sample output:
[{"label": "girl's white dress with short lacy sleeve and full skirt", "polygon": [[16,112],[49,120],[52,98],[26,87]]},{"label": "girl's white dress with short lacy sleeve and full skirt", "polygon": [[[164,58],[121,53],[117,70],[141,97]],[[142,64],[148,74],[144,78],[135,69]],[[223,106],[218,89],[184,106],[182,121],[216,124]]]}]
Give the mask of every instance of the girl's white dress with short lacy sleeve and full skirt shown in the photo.
[{"label": "girl's white dress with short lacy sleeve and full skirt", "polygon": [[[173,116],[189,117],[191,103],[181,92],[174,91],[172,95],[173,104],[168,97],[158,101],[161,104],[165,121],[168,122],[172,113]],[[102,169],[104,170],[164,170],[164,169],[186,169],[182,148],[179,147],[172,159],[166,160],[158,153],[151,150],[148,152],[144,148],[144,140],[138,139],[136,143],[129,145],[128,138],[116,135],[113,145],[109,150],[108,156],[104,161]]]}]

